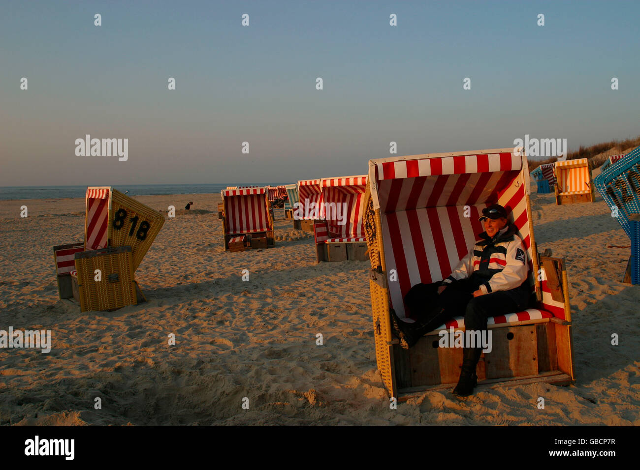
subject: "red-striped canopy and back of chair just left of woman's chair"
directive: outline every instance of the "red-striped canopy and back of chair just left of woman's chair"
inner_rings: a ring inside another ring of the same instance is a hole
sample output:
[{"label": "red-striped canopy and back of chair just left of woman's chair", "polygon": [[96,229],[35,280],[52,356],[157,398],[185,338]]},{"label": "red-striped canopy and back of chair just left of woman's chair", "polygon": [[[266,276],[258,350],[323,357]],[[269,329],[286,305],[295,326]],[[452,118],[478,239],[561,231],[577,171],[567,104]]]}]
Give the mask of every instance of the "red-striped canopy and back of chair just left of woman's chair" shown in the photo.
[{"label": "red-striped canopy and back of chair just left of woman's chair", "polygon": [[[367,175],[323,178],[321,186],[328,230],[327,241],[365,241],[363,215]],[[337,215],[340,216],[340,220]]]}]

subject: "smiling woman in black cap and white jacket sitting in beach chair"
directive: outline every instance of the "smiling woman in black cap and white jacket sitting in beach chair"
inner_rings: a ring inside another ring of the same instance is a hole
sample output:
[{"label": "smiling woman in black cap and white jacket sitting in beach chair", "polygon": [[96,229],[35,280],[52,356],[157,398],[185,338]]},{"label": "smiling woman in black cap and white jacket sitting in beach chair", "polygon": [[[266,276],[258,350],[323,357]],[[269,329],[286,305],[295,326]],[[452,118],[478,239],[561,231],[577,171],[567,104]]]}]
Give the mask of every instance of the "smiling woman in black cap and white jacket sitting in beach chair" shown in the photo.
[{"label": "smiling woman in black cap and white jacket sitting in beach chair", "polygon": [[[507,211],[494,204],[484,208],[483,233],[451,275],[442,282],[417,284],[404,297],[415,323],[403,322],[391,311],[392,327],[403,347],[410,348],[447,320],[465,316],[465,330],[486,332],[487,318],[522,311],[529,306],[527,256]],[[486,334],[486,333],[481,333]],[[477,345],[476,345],[477,346]],[[452,393],[468,396],[477,385],[476,364],[482,347],[463,348],[462,371]]]}]

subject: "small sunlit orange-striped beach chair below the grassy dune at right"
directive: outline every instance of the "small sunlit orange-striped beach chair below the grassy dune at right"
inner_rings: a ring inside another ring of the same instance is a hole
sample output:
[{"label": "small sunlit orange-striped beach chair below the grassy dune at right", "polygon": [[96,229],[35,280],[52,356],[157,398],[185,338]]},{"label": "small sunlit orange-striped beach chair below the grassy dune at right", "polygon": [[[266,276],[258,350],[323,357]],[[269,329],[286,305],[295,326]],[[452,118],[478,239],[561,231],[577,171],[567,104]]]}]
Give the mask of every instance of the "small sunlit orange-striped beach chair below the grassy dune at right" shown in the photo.
[{"label": "small sunlit orange-striped beach chair below the grassy dune at right", "polygon": [[595,201],[588,159],[557,161],[554,173],[557,205]]}]

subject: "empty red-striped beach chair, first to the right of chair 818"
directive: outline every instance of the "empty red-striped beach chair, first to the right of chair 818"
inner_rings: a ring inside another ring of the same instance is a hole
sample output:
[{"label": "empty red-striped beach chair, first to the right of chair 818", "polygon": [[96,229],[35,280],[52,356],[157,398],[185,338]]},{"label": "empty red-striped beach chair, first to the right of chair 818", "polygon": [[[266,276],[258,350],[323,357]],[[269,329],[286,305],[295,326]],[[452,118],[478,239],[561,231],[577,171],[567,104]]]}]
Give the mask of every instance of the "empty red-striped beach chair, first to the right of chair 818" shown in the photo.
[{"label": "empty red-striped beach chair, first to the right of chair 818", "polygon": [[271,215],[267,187],[223,189],[221,192],[223,214],[222,227],[225,251],[229,242],[246,236],[253,248],[266,248],[275,244],[273,216]]}]

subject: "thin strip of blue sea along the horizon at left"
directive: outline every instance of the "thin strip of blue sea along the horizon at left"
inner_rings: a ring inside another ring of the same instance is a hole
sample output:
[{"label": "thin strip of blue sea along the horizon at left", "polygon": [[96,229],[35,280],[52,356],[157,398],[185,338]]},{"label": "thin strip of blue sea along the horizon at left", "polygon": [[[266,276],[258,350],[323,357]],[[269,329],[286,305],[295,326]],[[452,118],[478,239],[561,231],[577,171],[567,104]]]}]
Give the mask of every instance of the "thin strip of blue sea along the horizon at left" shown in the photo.
[{"label": "thin strip of blue sea along the horizon at left", "polygon": [[[152,194],[214,194],[227,186],[278,186],[289,183],[136,184],[114,186],[127,196]],[[0,186],[0,200],[84,198],[86,186]]]}]

